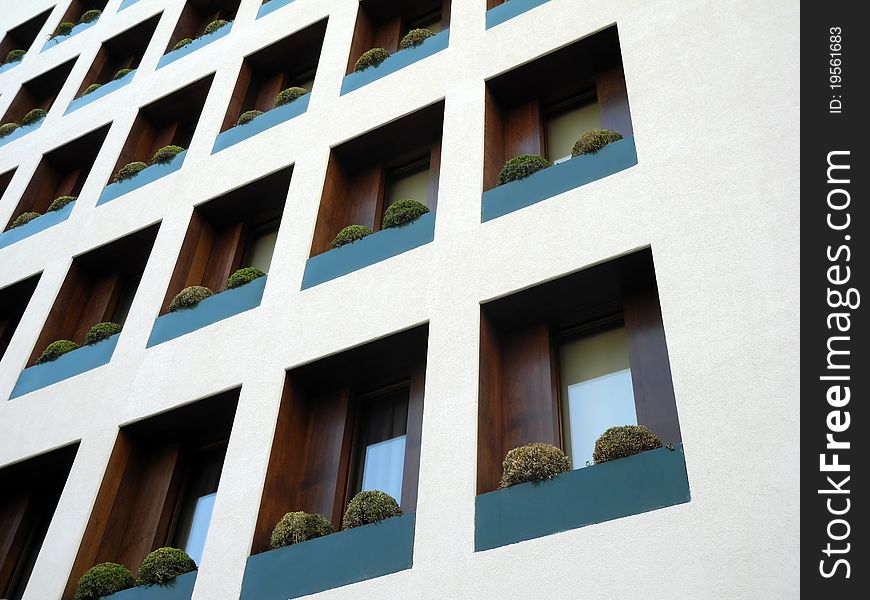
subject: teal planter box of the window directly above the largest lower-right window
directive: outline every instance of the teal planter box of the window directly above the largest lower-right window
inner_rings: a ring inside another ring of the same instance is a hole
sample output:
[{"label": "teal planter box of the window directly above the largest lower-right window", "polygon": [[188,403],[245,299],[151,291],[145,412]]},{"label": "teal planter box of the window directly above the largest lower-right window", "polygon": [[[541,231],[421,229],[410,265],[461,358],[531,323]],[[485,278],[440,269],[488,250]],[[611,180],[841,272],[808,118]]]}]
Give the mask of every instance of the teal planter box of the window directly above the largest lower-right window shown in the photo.
[{"label": "teal planter box of the window directly above the largest lower-right window", "polygon": [[595,154],[576,156],[525,179],[483,193],[481,221],[491,221],[637,164],[634,138],[608,144]]}]

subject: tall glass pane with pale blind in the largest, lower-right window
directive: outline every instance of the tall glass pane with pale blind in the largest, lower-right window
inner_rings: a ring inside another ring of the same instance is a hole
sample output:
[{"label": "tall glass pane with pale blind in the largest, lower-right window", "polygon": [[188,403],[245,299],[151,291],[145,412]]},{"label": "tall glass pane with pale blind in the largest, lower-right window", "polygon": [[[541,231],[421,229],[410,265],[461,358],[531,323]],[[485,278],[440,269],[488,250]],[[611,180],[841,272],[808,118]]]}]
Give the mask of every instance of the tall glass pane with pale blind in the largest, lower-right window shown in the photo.
[{"label": "tall glass pane with pale blind in the largest, lower-right window", "polygon": [[592,461],[595,440],[607,428],[637,424],[625,328],[564,344],[560,373],[565,447],[579,469]]}]

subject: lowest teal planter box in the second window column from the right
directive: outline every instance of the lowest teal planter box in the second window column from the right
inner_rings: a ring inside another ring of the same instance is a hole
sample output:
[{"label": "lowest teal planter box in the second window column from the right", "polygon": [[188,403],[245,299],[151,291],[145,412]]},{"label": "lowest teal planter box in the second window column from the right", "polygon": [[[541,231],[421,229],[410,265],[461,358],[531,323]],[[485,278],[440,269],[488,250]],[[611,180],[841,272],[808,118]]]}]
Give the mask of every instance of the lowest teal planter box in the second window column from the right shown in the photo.
[{"label": "lowest teal planter box in the second window column from the right", "polygon": [[410,569],[414,513],[256,554],[240,600],[288,600]]}]

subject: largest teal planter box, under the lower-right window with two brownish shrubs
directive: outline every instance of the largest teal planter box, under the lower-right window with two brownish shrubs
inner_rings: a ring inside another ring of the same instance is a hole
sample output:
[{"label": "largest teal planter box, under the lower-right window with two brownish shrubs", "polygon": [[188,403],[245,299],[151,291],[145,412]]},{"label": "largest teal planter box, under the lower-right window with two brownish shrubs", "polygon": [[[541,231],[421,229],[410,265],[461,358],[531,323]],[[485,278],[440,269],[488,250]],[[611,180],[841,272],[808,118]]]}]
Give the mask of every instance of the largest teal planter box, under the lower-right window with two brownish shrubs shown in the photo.
[{"label": "largest teal planter box, under the lower-right window with two brownish shrubs", "polygon": [[475,500],[474,550],[490,550],[690,500],[683,445],[524,483]]}]

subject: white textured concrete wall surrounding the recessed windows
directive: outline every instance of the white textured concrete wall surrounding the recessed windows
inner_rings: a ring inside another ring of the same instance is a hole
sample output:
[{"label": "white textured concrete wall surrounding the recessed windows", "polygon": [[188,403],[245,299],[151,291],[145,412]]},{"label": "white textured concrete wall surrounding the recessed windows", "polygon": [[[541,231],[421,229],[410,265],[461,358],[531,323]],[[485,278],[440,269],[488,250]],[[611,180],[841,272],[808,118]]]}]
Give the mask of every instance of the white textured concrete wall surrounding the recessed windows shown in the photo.
[{"label": "white textured concrete wall surrounding the recessed windows", "polygon": [[[52,0],[0,0],[0,31]],[[750,2],[551,0],[484,29],[454,0],[450,47],[339,97],[357,3],[296,0],[158,72],[183,0],[141,0],[0,75],[21,82],[79,56],[44,125],[0,147],[18,167],[6,222],[40,155],[113,121],[65,223],[0,250],[0,288],[43,277],[0,362],[0,465],[82,440],[26,598],[58,598],[119,424],[233,386],[241,400],[196,583],[235,598],[284,370],[428,321],[414,567],[323,599],[795,598],[798,596],[798,8]],[[59,0],[43,29],[68,6]],[[131,85],[69,116],[99,43],[163,10]],[[242,57],[329,16],[308,112],[209,156]],[[484,80],[619,26],[639,164],[480,223]],[[43,36],[44,37],[44,36]],[[184,168],[95,208],[141,105],[215,73]],[[435,241],[300,291],[329,148],[446,99]],[[295,164],[262,306],[145,349],[192,207]],[[6,402],[73,256],[163,222],[111,363]],[[656,264],[692,501],[473,552],[481,301],[644,246]]]}]

